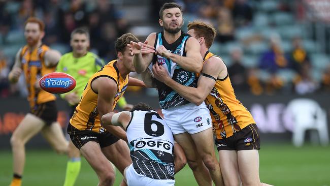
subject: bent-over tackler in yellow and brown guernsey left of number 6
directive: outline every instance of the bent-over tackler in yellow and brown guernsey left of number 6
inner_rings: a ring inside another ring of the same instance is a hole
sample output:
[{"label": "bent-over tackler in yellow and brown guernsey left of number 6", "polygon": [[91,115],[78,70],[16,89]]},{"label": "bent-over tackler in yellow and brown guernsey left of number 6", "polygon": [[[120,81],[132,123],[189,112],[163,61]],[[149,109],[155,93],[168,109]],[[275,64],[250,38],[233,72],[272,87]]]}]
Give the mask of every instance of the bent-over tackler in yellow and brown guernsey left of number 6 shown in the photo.
[{"label": "bent-over tackler in yellow and brown guernsey left of number 6", "polygon": [[100,122],[104,114],[113,111],[128,85],[144,86],[136,79],[128,82],[128,74],[135,71],[133,56],[126,46],[130,41],[139,42],[130,33],[117,39],[118,58],[90,77],[68,125],[73,144],[96,172],[99,185],[112,185],[114,182],[115,172],[109,160],[122,174],[131,163],[125,131]]}]

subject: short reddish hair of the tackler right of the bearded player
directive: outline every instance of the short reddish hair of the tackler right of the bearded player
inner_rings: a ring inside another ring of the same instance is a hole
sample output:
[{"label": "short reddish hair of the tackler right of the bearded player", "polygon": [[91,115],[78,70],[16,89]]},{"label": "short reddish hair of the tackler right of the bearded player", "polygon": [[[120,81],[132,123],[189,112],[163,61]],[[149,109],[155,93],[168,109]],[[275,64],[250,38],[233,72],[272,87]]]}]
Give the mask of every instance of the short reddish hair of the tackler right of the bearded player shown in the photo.
[{"label": "short reddish hair of the tackler right of the bearded player", "polygon": [[197,38],[204,37],[207,48],[210,48],[217,34],[217,30],[211,25],[202,21],[192,21],[188,24],[188,30],[193,29]]}]

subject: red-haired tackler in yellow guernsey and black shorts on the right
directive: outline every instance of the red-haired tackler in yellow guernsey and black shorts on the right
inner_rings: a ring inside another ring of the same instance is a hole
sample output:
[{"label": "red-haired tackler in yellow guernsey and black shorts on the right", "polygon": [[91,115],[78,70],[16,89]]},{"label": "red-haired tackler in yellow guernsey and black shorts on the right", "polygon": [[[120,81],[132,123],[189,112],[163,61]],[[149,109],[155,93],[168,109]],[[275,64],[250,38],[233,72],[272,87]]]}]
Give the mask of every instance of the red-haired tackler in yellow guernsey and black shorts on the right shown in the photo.
[{"label": "red-haired tackler in yellow guernsey and black shorts on the right", "polygon": [[[250,112],[236,99],[223,60],[209,48],[216,35],[212,25],[200,21],[188,24],[188,34],[199,41],[204,56],[197,87],[183,86],[155,64],[155,77],[191,103],[206,103],[212,116],[215,144],[225,185],[261,185],[259,178],[259,130]],[[263,185],[267,185],[263,183]]]}]

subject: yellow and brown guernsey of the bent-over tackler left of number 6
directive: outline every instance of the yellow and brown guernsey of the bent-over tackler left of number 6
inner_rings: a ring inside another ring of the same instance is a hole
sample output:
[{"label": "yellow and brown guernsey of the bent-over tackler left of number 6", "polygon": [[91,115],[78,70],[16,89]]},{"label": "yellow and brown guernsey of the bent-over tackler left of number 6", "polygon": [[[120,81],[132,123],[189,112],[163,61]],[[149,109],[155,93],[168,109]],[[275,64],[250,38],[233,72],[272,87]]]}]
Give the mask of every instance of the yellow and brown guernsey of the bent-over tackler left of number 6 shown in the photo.
[{"label": "yellow and brown guernsey of the bent-over tackler left of number 6", "polygon": [[128,75],[124,78],[121,77],[116,64],[117,60],[110,61],[100,71],[89,78],[80,102],[70,119],[70,124],[78,130],[88,130],[97,133],[106,131],[100,123],[100,115],[98,115],[97,111],[97,93],[91,88],[91,83],[98,77],[109,77],[116,82],[118,88],[113,102],[113,108],[115,108],[119,98],[124,94],[128,83]]}]

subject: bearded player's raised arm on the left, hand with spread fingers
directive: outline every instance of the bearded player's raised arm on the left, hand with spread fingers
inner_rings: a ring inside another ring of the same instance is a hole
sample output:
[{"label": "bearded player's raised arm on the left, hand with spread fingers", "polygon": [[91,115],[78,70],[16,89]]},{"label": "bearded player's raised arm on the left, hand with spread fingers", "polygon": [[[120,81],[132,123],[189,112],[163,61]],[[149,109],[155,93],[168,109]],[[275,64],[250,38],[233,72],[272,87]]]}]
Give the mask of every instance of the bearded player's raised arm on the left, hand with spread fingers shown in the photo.
[{"label": "bearded player's raised arm on the left, hand with spread fingers", "polygon": [[151,33],[144,43],[131,41],[127,46],[133,57],[134,67],[137,73],[144,72],[152,61],[154,54],[153,44],[156,39],[156,33]]}]

